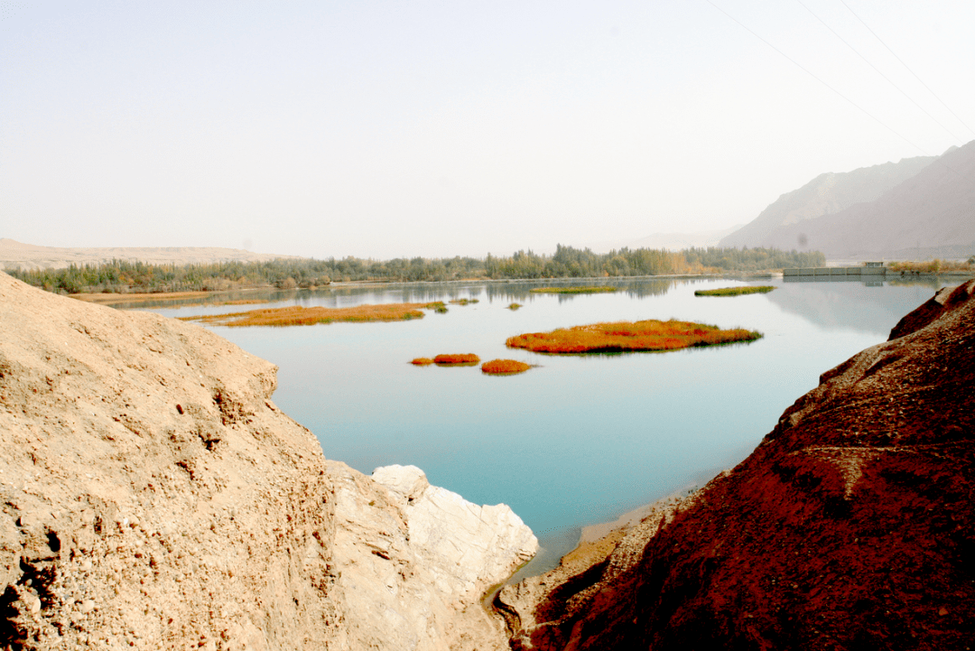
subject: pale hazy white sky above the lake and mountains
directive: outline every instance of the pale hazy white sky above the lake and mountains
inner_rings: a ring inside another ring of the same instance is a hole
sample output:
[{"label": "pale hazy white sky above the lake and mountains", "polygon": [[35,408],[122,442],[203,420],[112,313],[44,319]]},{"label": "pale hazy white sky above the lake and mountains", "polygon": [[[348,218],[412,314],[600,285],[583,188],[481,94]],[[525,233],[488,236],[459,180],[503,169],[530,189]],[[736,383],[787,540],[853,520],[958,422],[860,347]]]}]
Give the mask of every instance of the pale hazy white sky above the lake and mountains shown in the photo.
[{"label": "pale hazy white sky above the lake and mountains", "polygon": [[970,0],[0,0],[0,238],[388,259],[726,228],[975,139],[972,25]]}]

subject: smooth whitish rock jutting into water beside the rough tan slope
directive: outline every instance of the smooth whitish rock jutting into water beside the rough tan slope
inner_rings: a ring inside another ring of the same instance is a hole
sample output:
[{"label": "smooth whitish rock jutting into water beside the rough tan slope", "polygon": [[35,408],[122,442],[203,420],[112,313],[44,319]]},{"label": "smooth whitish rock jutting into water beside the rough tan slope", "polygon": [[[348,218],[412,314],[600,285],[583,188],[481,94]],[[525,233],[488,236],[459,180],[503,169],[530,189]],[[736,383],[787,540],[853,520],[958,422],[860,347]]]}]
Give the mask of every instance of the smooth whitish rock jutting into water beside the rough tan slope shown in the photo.
[{"label": "smooth whitish rock jutting into water beside the rough tan slope", "polygon": [[370,480],[327,463],[335,587],[346,613],[339,648],[508,649],[503,621],[481,598],[538,549],[521,518],[431,486],[414,466],[377,468]]}]

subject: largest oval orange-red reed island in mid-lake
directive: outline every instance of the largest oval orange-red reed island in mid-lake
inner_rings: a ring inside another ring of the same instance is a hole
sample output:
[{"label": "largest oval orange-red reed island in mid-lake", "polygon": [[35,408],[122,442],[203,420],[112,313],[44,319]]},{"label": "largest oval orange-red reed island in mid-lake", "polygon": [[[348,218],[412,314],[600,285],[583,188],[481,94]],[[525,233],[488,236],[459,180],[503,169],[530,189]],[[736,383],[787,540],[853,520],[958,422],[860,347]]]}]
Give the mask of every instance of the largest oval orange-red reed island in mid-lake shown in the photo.
[{"label": "largest oval orange-red reed island in mid-lake", "polygon": [[509,348],[525,348],[535,353],[627,353],[671,351],[691,346],[714,346],[754,341],[761,332],[686,321],[638,321],[576,325],[551,332],[531,332],[510,337]]}]

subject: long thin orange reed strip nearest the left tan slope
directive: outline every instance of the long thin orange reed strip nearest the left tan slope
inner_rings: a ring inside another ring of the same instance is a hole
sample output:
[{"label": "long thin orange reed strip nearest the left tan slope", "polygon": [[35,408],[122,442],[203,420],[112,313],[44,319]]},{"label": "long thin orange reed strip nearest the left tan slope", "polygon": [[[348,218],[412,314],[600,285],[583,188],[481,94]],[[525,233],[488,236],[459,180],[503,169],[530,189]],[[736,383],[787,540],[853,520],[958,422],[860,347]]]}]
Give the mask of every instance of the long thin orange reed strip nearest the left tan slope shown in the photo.
[{"label": "long thin orange reed strip nearest the left tan slope", "polygon": [[177,317],[180,321],[196,321],[211,325],[315,325],[335,322],[366,323],[376,321],[409,321],[422,319],[420,310],[437,310],[444,303],[383,303],[355,307],[289,307],[266,308],[231,314],[212,314],[197,317]]}]

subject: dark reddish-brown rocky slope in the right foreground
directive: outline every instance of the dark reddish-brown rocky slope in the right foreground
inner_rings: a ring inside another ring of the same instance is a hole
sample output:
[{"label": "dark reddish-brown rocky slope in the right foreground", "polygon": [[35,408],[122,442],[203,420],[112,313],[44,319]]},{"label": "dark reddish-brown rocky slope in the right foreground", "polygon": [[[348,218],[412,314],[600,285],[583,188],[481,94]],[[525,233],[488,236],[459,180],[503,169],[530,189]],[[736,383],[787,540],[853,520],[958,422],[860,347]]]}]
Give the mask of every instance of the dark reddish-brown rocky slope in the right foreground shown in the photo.
[{"label": "dark reddish-brown rocky slope in the right foreground", "polygon": [[939,293],[825,372],[748,459],[644,526],[624,571],[502,594],[516,647],[970,647],[973,293]]}]

